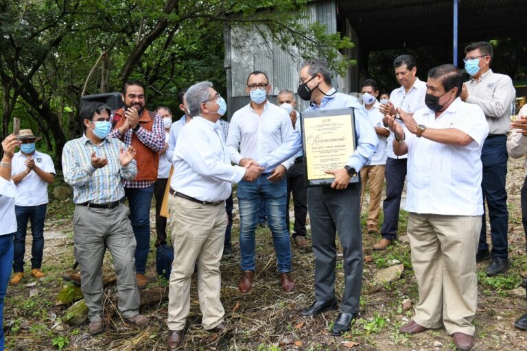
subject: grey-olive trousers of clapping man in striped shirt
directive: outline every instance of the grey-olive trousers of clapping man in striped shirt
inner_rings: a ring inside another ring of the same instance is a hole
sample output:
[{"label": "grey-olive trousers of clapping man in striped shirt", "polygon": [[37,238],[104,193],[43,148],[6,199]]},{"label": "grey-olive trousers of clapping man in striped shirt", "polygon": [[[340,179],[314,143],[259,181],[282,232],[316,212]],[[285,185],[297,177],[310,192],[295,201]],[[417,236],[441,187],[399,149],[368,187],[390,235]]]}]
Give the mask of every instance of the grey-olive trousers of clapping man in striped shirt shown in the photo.
[{"label": "grey-olive trousers of clapping man in striped shirt", "polygon": [[119,291],[119,311],[125,318],[139,313],[135,281],[135,237],[124,204],[116,208],[75,206],[73,253],[80,265],[80,289],[90,322],[102,319],[102,260],[106,248],[113,257]]}]

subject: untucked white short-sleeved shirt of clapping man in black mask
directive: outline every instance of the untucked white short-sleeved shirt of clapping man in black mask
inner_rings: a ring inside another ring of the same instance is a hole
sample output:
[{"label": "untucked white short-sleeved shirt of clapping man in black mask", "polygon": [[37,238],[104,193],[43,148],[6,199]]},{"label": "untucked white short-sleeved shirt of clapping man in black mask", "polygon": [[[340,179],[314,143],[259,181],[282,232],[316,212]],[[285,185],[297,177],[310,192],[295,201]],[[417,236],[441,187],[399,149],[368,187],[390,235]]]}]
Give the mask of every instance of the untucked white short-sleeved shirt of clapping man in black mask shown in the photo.
[{"label": "untucked white short-sleeved shirt of clapping man in black mask", "polygon": [[414,119],[427,128],[455,128],[468,134],[473,141],[466,146],[447,145],[406,132],[405,210],[436,215],[482,215],[481,149],[489,134],[482,109],[458,97],[437,119],[429,108],[415,112]]}]

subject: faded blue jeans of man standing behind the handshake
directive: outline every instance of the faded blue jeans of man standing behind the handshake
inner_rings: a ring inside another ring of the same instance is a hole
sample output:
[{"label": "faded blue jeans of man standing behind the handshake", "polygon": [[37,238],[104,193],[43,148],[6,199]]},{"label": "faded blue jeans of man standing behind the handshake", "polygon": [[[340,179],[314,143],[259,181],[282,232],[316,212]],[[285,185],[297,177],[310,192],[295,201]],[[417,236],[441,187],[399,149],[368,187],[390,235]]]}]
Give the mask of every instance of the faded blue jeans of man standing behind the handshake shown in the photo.
[{"label": "faded blue jeans of man standing behind the handshake", "polygon": [[242,180],[238,184],[239,205],[239,249],[242,254],[242,270],[255,270],[255,230],[262,201],[266,203],[266,214],[272,232],[274,251],[277,254],[279,273],[292,270],[291,243],[285,227],[285,199],[288,184],[285,178],[270,182],[266,174],[254,182]]}]

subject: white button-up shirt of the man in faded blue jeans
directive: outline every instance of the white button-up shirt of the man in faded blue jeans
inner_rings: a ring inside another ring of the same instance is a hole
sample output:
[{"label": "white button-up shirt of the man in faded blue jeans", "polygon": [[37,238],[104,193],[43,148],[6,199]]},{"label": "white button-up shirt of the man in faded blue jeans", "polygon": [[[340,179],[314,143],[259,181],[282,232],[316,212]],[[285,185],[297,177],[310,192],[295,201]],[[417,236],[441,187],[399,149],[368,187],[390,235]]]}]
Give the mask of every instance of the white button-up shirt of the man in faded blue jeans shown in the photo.
[{"label": "white button-up shirt of the man in faded blue jeans", "polygon": [[[227,138],[231,160],[236,165],[239,165],[242,158],[262,160],[277,149],[292,132],[291,118],[283,108],[267,101],[264,112],[259,116],[248,104],[234,112],[231,119]],[[281,165],[289,169],[293,163],[294,157]],[[272,169],[266,169],[266,172],[270,171]]]}]

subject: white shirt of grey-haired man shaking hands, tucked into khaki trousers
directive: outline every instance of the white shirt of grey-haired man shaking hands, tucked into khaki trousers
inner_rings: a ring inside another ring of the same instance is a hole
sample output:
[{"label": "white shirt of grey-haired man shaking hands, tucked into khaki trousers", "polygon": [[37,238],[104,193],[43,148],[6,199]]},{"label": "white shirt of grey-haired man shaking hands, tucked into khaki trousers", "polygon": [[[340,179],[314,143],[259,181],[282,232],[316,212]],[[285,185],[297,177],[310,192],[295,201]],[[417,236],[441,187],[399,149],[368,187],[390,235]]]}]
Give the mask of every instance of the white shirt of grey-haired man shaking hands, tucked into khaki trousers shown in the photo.
[{"label": "white shirt of grey-haired man shaking hands, tucked into khaki trousers", "polygon": [[245,175],[244,167],[231,165],[220,123],[200,116],[193,117],[178,136],[172,164],[172,189],[200,201],[226,199],[231,195],[231,183]]}]

